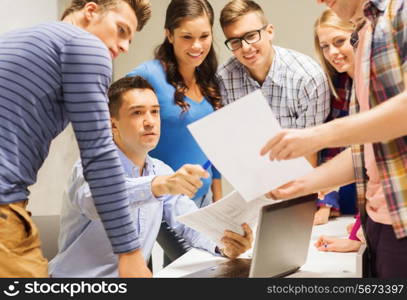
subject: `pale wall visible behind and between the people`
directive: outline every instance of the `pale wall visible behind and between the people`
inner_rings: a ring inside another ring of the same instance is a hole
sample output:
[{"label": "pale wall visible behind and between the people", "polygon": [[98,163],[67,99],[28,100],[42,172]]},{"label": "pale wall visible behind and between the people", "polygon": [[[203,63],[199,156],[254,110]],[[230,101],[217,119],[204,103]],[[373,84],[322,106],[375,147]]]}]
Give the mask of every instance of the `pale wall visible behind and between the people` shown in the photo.
[{"label": "pale wall visible behind and between the people", "polygon": [[[0,0],[0,34],[37,23],[58,20],[69,0]],[[153,16],[143,32],[137,33],[128,54],[114,64],[118,79],[153,57],[154,48],[162,42],[165,10],[170,0],[151,0]],[[219,13],[227,0],[210,0],[215,10],[215,47],[219,61],[230,56],[219,26]],[[275,25],[274,44],[296,49],[313,56],[312,25],[323,6],[314,0],[258,0],[269,21]],[[6,9],[4,9],[6,8]],[[41,168],[37,183],[30,188],[30,209],[35,215],[58,214],[68,174],[78,158],[78,149],[70,127],[55,139],[50,154]],[[226,185],[226,189],[230,187]]]}]

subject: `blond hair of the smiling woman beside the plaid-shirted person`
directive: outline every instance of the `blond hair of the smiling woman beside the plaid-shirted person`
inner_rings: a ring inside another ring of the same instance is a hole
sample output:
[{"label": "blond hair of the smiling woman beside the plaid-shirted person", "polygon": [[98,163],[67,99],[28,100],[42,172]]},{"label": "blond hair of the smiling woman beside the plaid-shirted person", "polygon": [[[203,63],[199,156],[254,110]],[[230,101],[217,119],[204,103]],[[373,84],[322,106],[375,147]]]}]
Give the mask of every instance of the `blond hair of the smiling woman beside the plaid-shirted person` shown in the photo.
[{"label": "blond hair of the smiling woman beside the plaid-shirted person", "polygon": [[337,28],[339,30],[343,30],[343,31],[353,32],[355,30],[355,26],[351,22],[344,21],[341,18],[339,18],[329,8],[326,9],[325,11],[323,11],[321,16],[315,21],[315,24],[314,24],[315,52],[317,54],[318,60],[321,63],[323,70],[327,74],[329,87],[331,88],[332,93],[334,94],[335,97],[338,97],[338,93],[336,92],[336,89],[332,82],[332,78],[334,77],[335,74],[337,74],[337,72],[336,72],[335,68],[332,67],[332,65],[325,59],[324,54],[322,53],[319,37],[317,34],[318,29],[321,27],[332,27],[332,28]]}]

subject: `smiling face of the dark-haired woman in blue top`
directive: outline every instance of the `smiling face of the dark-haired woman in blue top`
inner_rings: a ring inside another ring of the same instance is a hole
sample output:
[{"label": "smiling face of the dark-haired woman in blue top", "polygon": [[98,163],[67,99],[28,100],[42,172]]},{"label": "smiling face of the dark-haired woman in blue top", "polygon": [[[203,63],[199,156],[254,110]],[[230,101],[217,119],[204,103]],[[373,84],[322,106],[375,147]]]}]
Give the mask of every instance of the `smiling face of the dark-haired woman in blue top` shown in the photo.
[{"label": "smiling face of the dark-haired woman in blue top", "polygon": [[212,47],[212,27],[206,15],[185,19],[172,33],[166,30],[166,35],[181,68],[200,66]]}]

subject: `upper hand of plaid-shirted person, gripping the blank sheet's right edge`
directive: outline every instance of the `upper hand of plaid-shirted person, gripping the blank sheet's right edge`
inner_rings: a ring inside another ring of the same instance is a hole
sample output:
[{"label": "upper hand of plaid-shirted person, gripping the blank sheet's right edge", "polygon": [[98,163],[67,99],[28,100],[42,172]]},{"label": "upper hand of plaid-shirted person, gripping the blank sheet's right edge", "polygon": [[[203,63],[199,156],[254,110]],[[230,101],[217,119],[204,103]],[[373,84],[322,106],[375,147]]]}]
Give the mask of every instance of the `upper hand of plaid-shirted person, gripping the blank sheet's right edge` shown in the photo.
[{"label": "upper hand of plaid-shirted person, gripping the blank sheet's right edge", "polygon": [[263,146],[260,155],[269,153],[270,160],[284,160],[316,153],[321,145],[315,128],[283,129]]}]

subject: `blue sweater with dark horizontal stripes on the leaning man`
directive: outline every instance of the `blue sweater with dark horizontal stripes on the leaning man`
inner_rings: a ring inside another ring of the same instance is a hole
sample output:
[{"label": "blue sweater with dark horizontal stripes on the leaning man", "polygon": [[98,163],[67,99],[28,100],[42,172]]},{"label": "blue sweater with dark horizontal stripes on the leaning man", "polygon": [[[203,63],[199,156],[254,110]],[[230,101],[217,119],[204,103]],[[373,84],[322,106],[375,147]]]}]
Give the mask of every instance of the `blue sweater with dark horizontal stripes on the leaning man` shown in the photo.
[{"label": "blue sweater with dark horizontal stripes on the leaning man", "polygon": [[71,24],[0,36],[0,203],[28,199],[51,141],[71,122],[95,206],[114,252],[124,253],[140,244],[111,136],[111,75],[106,46]]}]

